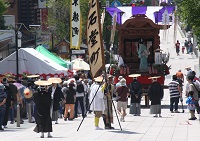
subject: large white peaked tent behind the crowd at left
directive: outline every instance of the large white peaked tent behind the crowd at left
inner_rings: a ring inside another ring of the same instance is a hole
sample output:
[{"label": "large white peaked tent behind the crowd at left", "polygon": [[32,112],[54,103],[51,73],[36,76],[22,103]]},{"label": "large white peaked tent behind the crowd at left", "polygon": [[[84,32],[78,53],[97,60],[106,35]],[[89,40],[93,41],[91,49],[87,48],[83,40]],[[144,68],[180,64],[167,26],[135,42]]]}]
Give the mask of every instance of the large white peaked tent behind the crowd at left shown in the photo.
[{"label": "large white peaked tent behind the crowd at left", "polygon": [[[31,74],[67,74],[67,68],[56,64],[33,48],[18,50],[19,74],[28,71]],[[0,74],[16,74],[16,53],[0,61]]]}]

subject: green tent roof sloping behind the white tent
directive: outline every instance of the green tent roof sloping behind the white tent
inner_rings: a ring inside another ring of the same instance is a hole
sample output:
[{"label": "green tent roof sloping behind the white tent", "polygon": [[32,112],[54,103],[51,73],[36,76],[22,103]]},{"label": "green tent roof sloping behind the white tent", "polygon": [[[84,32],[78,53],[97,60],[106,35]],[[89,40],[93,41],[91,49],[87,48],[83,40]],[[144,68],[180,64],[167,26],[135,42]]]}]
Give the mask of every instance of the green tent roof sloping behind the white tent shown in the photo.
[{"label": "green tent roof sloping behind the white tent", "polygon": [[55,56],[53,53],[49,52],[46,48],[44,48],[43,46],[38,46],[36,48],[36,50],[40,53],[42,53],[44,56],[48,57],[49,59],[51,59],[52,61],[56,62],[57,64],[67,68],[67,63],[66,61],[64,61],[63,59]]}]

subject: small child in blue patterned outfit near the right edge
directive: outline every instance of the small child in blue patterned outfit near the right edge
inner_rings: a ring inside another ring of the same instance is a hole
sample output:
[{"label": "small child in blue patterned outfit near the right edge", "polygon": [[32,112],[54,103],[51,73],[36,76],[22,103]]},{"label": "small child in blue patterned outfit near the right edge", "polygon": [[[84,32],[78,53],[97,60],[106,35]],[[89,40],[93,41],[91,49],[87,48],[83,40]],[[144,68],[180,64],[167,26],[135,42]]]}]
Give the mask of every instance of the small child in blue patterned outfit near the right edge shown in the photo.
[{"label": "small child in blue patterned outfit near the right edge", "polygon": [[189,93],[188,93],[188,98],[187,98],[187,100],[186,100],[186,103],[188,104],[188,109],[190,110],[190,114],[191,114],[191,118],[189,119],[189,120],[195,120],[195,119],[197,119],[196,117],[195,117],[195,115],[194,115],[194,113],[195,113],[195,104],[196,104],[196,101],[195,101],[195,99],[194,99],[194,97],[193,97],[193,94],[194,94],[194,92],[193,91],[189,91]]}]

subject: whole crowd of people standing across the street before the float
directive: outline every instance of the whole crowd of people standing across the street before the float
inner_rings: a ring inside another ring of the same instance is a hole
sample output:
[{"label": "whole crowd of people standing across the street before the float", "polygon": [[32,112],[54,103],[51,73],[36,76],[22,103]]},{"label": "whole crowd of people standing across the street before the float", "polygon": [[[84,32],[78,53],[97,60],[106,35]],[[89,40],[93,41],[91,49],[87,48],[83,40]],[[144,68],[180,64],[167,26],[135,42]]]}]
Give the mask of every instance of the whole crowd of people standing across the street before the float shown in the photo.
[{"label": "whole crowd of people standing across the street before the float", "polygon": [[[184,77],[188,81],[185,96],[186,103],[191,113],[189,120],[197,119],[195,110],[199,113],[200,82],[195,72],[190,67],[186,68],[187,74],[183,75],[181,69],[172,76],[169,83],[170,112],[179,113],[178,103],[182,97]],[[99,127],[99,119],[102,117],[105,129],[114,129],[113,114],[117,113],[121,122],[125,122],[127,115],[128,98],[130,97],[129,114],[141,115],[142,85],[137,80],[140,75],[130,75],[133,81],[126,83],[123,76],[119,76],[119,82],[113,83],[112,75],[102,75],[90,80],[80,72],[73,78],[49,78],[39,80],[38,76],[29,77],[28,80],[16,81],[11,78],[3,78],[0,83],[0,130],[7,128],[7,123],[16,122],[17,105],[20,106],[20,123],[24,118],[30,118],[36,123],[35,132],[41,132],[41,138],[47,132],[51,138],[52,123],[59,124],[58,118],[64,121],[72,121],[75,118],[86,118],[88,113],[94,113],[94,126]],[[161,101],[164,96],[163,87],[157,82],[159,77],[149,77],[152,84],[147,95],[151,102],[150,114],[153,117],[162,117]],[[22,87],[23,86],[23,87]],[[117,101],[116,110],[113,101]],[[31,115],[29,115],[29,106]],[[52,122],[53,121],[53,122]]]}]

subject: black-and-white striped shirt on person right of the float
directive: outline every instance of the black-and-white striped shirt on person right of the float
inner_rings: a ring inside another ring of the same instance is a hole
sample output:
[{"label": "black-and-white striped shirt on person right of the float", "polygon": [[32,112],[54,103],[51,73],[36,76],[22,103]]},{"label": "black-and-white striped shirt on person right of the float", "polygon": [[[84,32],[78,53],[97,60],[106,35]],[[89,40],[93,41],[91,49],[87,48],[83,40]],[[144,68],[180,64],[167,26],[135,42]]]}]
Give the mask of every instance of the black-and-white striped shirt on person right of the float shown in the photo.
[{"label": "black-and-white striped shirt on person right of the float", "polygon": [[175,97],[180,96],[180,93],[178,91],[178,86],[179,86],[179,83],[177,81],[174,81],[174,80],[172,80],[172,82],[170,82],[168,84],[170,98],[175,98]]}]

